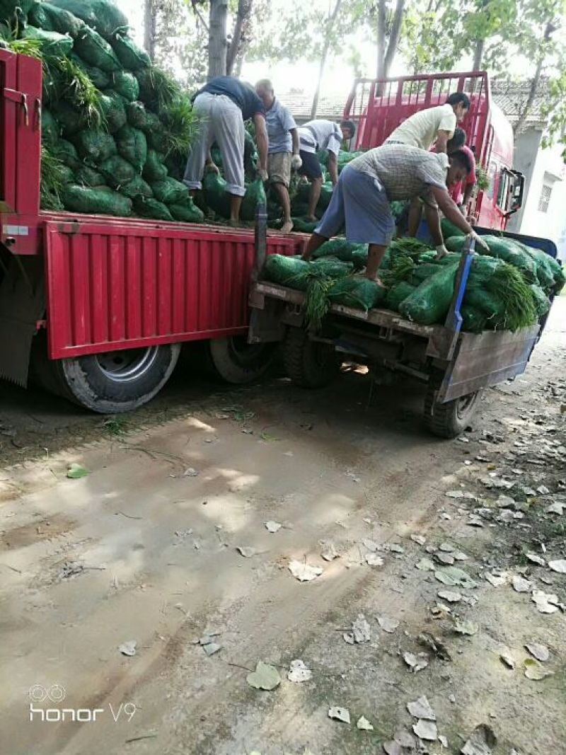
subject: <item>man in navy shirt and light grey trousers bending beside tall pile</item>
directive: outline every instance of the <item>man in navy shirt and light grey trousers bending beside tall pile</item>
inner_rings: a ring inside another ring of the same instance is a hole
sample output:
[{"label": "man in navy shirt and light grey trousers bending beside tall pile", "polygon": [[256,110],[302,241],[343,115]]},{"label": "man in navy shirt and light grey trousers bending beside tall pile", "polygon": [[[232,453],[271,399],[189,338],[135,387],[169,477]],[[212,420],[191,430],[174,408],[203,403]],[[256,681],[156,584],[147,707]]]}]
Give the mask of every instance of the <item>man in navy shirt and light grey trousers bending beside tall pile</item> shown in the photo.
[{"label": "man in navy shirt and light grey trousers bending beside tall pile", "polygon": [[211,157],[216,142],[223,159],[226,192],[230,195],[230,223],[237,225],[244,187],[244,122],[254,120],[259,172],[267,180],[266,111],[254,88],[232,76],[216,76],[193,97],[193,109],[200,118],[200,128],[191,146],[183,183],[191,195],[202,188],[205,170],[218,171]]}]

